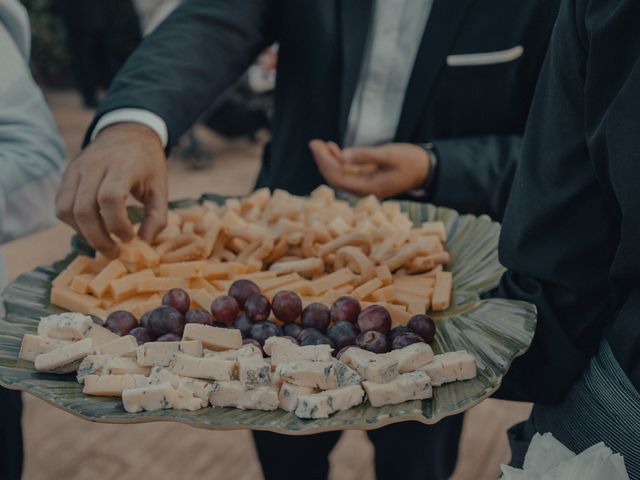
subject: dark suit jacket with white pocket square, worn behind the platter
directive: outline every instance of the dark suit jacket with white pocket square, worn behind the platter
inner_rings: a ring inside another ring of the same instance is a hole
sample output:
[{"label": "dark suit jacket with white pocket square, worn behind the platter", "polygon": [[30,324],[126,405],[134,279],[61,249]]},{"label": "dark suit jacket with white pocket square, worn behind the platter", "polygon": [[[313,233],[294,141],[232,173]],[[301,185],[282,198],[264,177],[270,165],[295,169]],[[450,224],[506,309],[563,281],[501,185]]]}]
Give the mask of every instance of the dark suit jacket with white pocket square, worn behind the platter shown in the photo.
[{"label": "dark suit jacket with white pocket square, worn behind the platter", "polygon": [[[435,0],[395,140],[436,145],[430,200],[501,216],[559,0]],[[254,57],[279,42],[273,137],[258,186],[307,194],[323,183],[313,138],[344,138],[371,0],[187,0],[132,55],[96,118],[151,110],[169,147]],[[514,61],[449,67],[447,55],[521,45]]]}]

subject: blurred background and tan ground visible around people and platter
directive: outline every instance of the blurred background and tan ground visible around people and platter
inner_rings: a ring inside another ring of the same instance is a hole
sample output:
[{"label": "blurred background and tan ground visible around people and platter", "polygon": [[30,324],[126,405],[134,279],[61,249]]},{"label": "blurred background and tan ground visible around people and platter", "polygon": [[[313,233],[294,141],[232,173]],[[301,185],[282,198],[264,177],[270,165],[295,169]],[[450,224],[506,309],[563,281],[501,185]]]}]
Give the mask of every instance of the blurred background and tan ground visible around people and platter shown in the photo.
[{"label": "blurred background and tan ground visible around people and platter", "polygon": [[[113,75],[179,1],[23,3],[33,31],[33,73],[53,111],[68,157],[73,158]],[[274,46],[184,136],[169,159],[172,199],[204,192],[243,195],[251,190],[262,146],[269,138],[276,64]],[[71,234],[58,225],[3,245],[10,280],[63,257]],[[169,423],[91,424],[30,395],[24,397],[25,480],[261,478],[249,432],[213,432]],[[497,478],[500,463],[510,457],[505,430],[525,419],[529,411],[526,404],[496,400],[471,410],[453,478]],[[363,432],[348,432],[331,456],[331,479],[373,478],[371,444]]]}]

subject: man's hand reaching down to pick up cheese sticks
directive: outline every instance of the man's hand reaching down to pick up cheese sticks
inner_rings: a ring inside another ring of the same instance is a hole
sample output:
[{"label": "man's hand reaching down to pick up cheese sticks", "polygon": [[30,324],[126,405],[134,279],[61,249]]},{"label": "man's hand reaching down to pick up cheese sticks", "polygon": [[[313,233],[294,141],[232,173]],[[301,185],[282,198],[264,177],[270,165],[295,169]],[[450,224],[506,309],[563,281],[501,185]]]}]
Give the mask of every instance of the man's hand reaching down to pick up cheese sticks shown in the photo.
[{"label": "man's hand reaching down to pick up cheese sticks", "polygon": [[166,158],[158,136],[136,123],[106,128],[69,164],[56,214],[113,258],[117,251],[111,234],[123,241],[135,236],[127,216],[129,194],[144,205],[138,235],[151,241],[167,222]]}]

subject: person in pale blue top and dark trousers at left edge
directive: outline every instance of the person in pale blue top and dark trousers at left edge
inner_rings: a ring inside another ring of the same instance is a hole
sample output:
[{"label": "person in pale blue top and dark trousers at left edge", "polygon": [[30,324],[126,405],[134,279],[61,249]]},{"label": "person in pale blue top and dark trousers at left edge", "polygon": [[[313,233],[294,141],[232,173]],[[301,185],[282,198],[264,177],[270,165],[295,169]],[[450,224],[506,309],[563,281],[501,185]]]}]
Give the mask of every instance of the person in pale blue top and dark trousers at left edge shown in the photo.
[{"label": "person in pale blue top and dark trousers at left edge", "polygon": [[[27,12],[0,0],[0,244],[48,227],[65,150],[29,71]],[[0,252],[0,291],[6,285]],[[2,314],[0,305],[0,314]],[[20,392],[0,387],[0,478],[22,471]]]}]

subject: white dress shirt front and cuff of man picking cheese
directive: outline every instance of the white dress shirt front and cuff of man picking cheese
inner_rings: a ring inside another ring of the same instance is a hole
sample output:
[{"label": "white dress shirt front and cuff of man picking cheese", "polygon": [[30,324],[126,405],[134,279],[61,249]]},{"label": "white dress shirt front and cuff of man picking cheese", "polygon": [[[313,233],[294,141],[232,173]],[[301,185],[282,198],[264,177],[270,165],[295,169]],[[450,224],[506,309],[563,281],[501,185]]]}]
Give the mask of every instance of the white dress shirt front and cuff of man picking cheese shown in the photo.
[{"label": "white dress shirt front and cuff of man picking cheese", "polygon": [[[349,111],[345,147],[393,140],[432,5],[433,0],[375,0],[360,78]],[[105,114],[91,138],[104,128],[123,122],[148,126],[167,145],[165,121],[155,113],[136,108]]]}]

